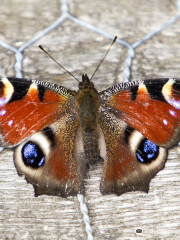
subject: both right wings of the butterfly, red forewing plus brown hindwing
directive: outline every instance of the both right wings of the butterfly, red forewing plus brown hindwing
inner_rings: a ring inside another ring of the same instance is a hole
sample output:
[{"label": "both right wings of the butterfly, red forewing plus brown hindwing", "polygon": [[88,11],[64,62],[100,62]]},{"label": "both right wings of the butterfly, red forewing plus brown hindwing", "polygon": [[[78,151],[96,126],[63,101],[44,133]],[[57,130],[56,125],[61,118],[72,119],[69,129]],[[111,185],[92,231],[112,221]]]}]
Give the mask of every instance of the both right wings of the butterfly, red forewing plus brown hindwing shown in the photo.
[{"label": "both right wings of the butterfly, red forewing plus brown hindwing", "polygon": [[164,167],[167,148],[179,140],[180,80],[113,86],[100,93],[106,143],[101,192],[142,190]]}]

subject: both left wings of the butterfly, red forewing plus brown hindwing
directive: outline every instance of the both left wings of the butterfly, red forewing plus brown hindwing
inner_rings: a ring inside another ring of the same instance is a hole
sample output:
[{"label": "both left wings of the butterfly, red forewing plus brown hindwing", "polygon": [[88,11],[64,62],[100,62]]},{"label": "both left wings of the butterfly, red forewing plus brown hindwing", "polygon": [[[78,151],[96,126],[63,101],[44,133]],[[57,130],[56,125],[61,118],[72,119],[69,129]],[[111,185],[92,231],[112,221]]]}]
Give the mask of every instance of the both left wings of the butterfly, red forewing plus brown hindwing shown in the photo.
[{"label": "both left wings of the butterfly, red forewing plus brown hindwing", "polygon": [[74,96],[51,83],[1,79],[0,142],[15,147],[18,173],[33,184],[36,195],[83,191],[84,156]]}]

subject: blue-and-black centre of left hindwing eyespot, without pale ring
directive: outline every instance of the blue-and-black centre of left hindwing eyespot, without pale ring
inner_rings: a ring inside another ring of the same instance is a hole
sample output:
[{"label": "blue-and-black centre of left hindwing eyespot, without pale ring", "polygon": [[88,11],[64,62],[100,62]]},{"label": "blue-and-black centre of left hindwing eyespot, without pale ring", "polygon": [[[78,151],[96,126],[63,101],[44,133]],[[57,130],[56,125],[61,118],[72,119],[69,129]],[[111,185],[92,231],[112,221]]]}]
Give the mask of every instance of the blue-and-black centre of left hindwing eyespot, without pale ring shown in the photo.
[{"label": "blue-and-black centre of left hindwing eyespot, without pale ring", "polygon": [[29,141],[22,148],[22,158],[26,166],[39,168],[45,163],[45,155],[40,147]]}]

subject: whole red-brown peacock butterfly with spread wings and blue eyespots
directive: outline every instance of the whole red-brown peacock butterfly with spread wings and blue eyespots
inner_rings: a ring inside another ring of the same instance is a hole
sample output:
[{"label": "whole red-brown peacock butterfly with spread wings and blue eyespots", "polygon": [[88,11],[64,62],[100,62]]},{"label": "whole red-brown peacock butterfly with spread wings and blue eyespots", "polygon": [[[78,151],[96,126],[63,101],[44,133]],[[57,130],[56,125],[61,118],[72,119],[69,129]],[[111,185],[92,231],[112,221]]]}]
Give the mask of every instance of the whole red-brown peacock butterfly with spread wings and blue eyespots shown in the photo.
[{"label": "whole red-brown peacock butterfly with spread wings and blue eyespots", "polygon": [[87,75],[78,91],[3,77],[0,145],[14,150],[35,195],[83,194],[86,166],[104,160],[102,194],[140,190],[179,141],[180,79],[149,79],[98,92]]}]

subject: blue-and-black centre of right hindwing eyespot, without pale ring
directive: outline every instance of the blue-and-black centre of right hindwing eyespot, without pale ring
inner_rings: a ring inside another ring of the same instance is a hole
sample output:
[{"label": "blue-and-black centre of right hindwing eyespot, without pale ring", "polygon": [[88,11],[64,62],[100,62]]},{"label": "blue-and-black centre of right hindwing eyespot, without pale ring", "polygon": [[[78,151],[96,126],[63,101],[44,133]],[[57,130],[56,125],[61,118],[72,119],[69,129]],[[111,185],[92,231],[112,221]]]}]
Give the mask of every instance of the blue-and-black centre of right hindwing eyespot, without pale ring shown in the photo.
[{"label": "blue-and-black centre of right hindwing eyespot, without pale ring", "polygon": [[143,139],[136,150],[137,160],[141,163],[148,164],[154,161],[159,155],[159,147],[147,140]]}]

